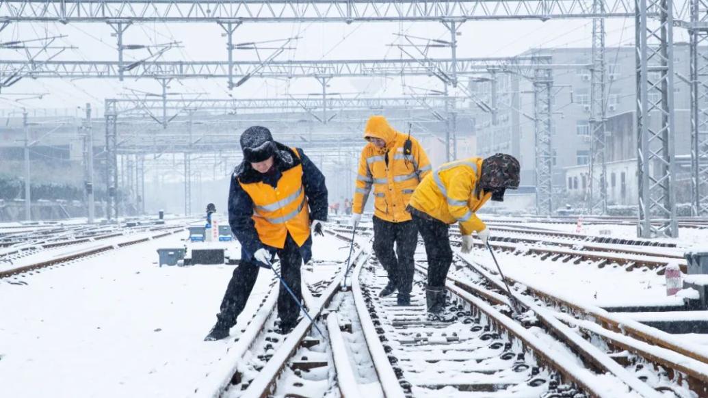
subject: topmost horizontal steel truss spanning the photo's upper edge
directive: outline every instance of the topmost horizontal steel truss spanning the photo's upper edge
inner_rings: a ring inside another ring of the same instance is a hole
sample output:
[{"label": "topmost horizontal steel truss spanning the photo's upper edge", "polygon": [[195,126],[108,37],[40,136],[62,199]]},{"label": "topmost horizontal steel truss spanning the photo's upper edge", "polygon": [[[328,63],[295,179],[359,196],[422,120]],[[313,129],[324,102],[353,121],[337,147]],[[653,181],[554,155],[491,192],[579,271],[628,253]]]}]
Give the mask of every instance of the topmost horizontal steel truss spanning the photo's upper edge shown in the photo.
[{"label": "topmost horizontal steel truss spanning the photo's upper edge", "polygon": [[632,4],[603,0],[10,0],[0,21],[72,22],[397,22],[629,17]]}]

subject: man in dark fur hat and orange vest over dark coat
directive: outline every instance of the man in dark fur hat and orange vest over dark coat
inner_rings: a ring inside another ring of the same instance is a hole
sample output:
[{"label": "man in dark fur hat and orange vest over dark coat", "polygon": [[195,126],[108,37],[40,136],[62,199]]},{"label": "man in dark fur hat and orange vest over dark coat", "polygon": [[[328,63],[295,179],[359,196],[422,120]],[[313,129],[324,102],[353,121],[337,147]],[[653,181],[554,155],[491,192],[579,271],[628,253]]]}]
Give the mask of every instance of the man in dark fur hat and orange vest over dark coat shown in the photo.
[{"label": "man in dark fur hat and orange vest over dark coat", "polygon": [[[229,336],[246,306],[259,268],[280,258],[280,275],[302,303],[300,266],[312,256],[311,228],[323,235],[327,220],[324,175],[302,152],[273,140],[270,130],[249,127],[241,135],[244,161],[236,166],[229,189],[229,224],[241,243],[241,263],[224,293],[217,322],[205,340]],[[297,324],[299,305],[280,285],[280,332]]]}]

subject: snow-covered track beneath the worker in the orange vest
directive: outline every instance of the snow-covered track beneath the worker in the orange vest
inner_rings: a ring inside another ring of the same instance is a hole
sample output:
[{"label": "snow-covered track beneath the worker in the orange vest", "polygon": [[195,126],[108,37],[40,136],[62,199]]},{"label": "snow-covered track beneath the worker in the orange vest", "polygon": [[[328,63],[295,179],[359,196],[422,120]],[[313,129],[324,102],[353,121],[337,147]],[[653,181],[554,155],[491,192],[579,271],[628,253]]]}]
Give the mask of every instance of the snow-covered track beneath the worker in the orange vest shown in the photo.
[{"label": "snow-covered track beneath the worker in the orange vest", "polygon": [[[273,291],[254,317],[256,322],[241,330],[236,346],[222,361],[228,365],[207,375],[195,394],[198,397],[270,397],[276,393],[289,397],[324,397],[331,391],[333,374],[330,375],[328,369],[335,367],[335,363],[326,325],[334,321],[326,322],[324,317],[330,312],[328,307],[333,297],[340,291],[346,264],[319,263],[313,267],[327,266],[333,271],[331,275],[303,283],[303,300],[315,324],[302,317],[290,334],[277,332],[278,280],[275,280]],[[313,395],[313,391],[317,393]]]}]

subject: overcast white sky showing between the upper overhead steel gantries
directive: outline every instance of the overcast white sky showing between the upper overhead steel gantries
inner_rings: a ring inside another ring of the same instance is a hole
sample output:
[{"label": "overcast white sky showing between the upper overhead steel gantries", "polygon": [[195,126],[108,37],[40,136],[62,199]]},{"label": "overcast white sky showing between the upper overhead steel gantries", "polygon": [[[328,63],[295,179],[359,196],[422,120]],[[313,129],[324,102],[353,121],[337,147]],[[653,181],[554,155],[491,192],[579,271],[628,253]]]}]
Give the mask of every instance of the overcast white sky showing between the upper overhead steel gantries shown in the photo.
[{"label": "overcast white sky showing between the upper overhead steel gantries", "polygon": [[[459,29],[459,57],[513,56],[537,47],[589,47],[592,22],[590,20],[566,21],[489,21],[467,22]],[[0,41],[39,38],[45,35],[67,35],[67,50],[57,59],[115,60],[113,30],[103,23],[61,25],[57,23],[13,24],[0,33]],[[278,59],[397,59],[406,57],[389,44],[399,40],[394,33],[427,38],[449,39],[450,35],[440,23],[251,23],[241,25],[234,34],[234,42],[251,42],[300,36],[295,50],[289,50]],[[170,50],[162,59],[171,60],[226,60],[226,39],[222,28],[215,23],[143,23],[127,29],[124,43],[154,44],[179,41],[182,48]],[[682,29],[675,29],[675,41],[687,40]],[[57,41],[58,42],[58,41]],[[633,18],[607,21],[607,46],[631,45],[634,42]],[[142,59],[144,50],[126,52],[126,59]],[[13,50],[0,50],[1,59],[18,59],[23,54]],[[435,49],[433,57],[449,57],[450,50]],[[254,59],[253,51],[236,51],[236,59]],[[440,89],[435,78],[413,81],[396,79],[333,79],[330,91],[340,93],[365,92],[365,96],[399,96],[401,84],[428,86]],[[0,108],[76,108],[90,102],[102,108],[103,98],[113,98],[125,89],[159,92],[156,81],[117,79],[62,80],[25,79],[0,93]],[[292,81],[251,79],[230,92],[236,98],[275,97],[285,93],[301,94],[319,92],[314,79]],[[229,96],[226,81],[192,79],[173,81],[172,92],[205,93],[212,98]],[[23,96],[13,93],[44,93],[41,99],[16,101]],[[47,95],[48,94],[48,95]]]}]

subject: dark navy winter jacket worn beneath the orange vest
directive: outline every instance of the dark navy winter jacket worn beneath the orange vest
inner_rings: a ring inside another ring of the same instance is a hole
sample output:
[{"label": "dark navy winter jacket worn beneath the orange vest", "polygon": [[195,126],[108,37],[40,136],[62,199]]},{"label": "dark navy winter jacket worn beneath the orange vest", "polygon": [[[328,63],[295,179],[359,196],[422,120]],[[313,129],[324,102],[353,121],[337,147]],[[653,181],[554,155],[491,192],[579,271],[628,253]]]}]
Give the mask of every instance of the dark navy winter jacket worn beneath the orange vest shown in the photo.
[{"label": "dark navy winter jacket worn beneath the orange vest", "polygon": [[[297,148],[298,159],[292,148],[286,147],[280,142],[275,142],[275,144],[278,149],[275,151],[274,172],[261,174],[254,170],[249,162],[242,161],[234,169],[234,174],[231,178],[231,187],[229,188],[229,225],[232,232],[234,232],[234,236],[241,243],[241,259],[244,261],[251,261],[253,253],[258,249],[265,247],[273,251],[273,248],[263,244],[258,237],[256,224],[251,218],[253,216],[253,200],[244,191],[244,188],[241,188],[239,181],[242,183],[263,181],[263,183],[275,188],[275,186],[278,186],[278,181],[283,171],[302,164],[302,186],[307,196],[310,220],[327,220],[327,187],[325,186],[324,175],[309,157],[302,152],[302,149]],[[300,254],[305,263],[312,257],[312,237],[302,244]]]}]

